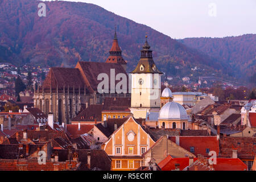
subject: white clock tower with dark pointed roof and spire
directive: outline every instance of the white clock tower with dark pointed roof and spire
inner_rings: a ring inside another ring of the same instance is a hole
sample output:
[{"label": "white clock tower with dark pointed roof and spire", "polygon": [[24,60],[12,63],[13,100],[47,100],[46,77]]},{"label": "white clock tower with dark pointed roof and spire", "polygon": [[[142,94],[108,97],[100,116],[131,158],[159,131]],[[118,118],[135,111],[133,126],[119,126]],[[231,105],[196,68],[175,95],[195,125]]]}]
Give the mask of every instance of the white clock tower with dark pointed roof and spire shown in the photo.
[{"label": "white clock tower with dark pointed roof and spire", "polygon": [[141,59],[131,72],[131,113],[134,118],[146,118],[146,113],[159,111],[161,96],[161,75],[152,58],[152,51],[146,42],[141,50]]}]

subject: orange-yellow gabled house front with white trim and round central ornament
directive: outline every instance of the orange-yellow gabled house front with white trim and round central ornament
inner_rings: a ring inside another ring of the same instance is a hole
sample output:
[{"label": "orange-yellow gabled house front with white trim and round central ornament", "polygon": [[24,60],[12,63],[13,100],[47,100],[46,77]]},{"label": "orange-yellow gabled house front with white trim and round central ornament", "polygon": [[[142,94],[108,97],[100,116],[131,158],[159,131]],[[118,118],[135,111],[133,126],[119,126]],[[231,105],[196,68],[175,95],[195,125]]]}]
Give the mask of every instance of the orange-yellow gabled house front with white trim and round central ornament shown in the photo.
[{"label": "orange-yellow gabled house front with white trim and round central ornament", "polygon": [[112,159],[113,171],[132,171],[143,166],[142,154],[154,143],[135,118],[129,117],[114,131],[102,149]]}]

